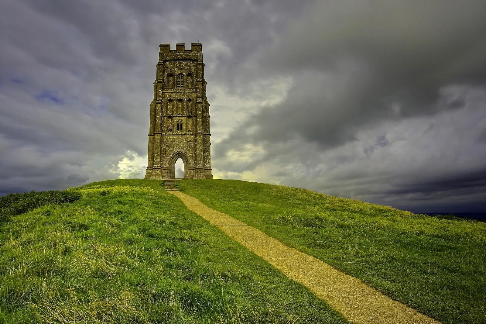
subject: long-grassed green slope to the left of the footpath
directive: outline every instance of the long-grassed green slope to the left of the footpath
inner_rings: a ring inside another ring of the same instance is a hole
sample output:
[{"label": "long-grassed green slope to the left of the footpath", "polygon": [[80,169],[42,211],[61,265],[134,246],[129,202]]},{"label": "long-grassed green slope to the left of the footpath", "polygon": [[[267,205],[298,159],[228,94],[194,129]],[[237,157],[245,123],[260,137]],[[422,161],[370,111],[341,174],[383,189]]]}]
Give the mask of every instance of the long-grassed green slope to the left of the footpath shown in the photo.
[{"label": "long-grassed green slope to the left of the footpath", "polygon": [[160,181],[74,190],[0,225],[0,323],[347,323]]}]

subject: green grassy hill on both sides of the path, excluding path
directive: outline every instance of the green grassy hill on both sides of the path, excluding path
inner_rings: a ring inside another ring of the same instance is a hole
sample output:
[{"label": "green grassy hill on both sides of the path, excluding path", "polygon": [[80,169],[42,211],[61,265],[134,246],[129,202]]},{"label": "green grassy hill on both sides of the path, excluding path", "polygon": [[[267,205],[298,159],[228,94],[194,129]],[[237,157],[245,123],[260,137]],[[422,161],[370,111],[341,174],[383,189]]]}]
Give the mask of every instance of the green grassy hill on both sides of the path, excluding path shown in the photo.
[{"label": "green grassy hill on both sides of the path, excluding path", "polygon": [[[0,223],[0,322],[347,323],[160,185],[94,182]],[[179,186],[444,323],[486,322],[486,223],[254,182]]]}]

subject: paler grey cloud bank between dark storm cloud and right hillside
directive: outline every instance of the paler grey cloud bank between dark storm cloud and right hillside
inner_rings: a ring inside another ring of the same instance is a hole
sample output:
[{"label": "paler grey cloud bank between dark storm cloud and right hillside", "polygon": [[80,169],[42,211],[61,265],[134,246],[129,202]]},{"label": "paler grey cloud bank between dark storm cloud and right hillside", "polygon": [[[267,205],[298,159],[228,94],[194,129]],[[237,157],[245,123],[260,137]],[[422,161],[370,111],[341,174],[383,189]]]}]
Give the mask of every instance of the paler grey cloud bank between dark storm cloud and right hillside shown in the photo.
[{"label": "paler grey cloud bank between dark storm cloud and right hillside", "polygon": [[[355,140],[324,150],[295,135],[264,145],[267,154],[255,161],[221,159],[218,165],[239,172],[263,167],[260,181],[414,212],[485,212],[486,145],[476,138],[486,119],[486,88],[443,92],[463,96],[463,106],[369,124]],[[372,153],[364,150],[369,147]]]}]

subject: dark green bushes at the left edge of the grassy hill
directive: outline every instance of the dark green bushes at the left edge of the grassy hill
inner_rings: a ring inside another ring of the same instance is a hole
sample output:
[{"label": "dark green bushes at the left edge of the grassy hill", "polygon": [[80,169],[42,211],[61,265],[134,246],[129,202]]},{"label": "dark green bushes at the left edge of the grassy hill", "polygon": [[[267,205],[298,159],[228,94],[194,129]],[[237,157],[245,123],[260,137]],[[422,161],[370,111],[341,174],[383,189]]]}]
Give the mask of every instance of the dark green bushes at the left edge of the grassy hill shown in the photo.
[{"label": "dark green bushes at the left edge of the grassy hill", "polygon": [[8,194],[0,197],[0,222],[7,221],[10,216],[27,213],[40,206],[73,202],[79,198],[81,198],[79,192],[59,190]]}]

